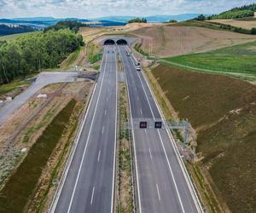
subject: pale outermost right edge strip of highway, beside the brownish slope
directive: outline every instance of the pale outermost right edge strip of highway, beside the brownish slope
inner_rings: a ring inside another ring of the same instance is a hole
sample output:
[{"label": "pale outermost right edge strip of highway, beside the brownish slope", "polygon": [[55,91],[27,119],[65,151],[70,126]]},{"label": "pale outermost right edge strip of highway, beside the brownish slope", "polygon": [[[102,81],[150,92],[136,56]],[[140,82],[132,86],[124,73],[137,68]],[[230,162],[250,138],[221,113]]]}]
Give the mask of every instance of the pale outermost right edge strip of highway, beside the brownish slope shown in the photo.
[{"label": "pale outermost right edge strip of highway, beside the brownish slope", "polygon": [[[134,60],[136,60],[135,56],[134,56],[133,54],[131,54],[131,55],[132,55],[132,57],[134,58]],[[136,61],[137,61],[137,60],[136,60]],[[149,86],[149,84],[148,84],[148,79],[145,78],[144,72],[142,72],[142,73],[143,73],[143,78],[144,78],[145,82],[146,82],[147,85],[148,85],[148,89],[150,90],[150,93],[151,93],[151,95],[152,95],[153,98],[154,98],[154,102],[155,102],[155,104],[156,104],[156,106],[157,106],[157,108],[158,108],[158,110],[159,110],[159,112],[160,112],[160,116],[161,116],[161,118],[162,118],[163,120],[165,120],[165,119],[164,119],[165,117],[164,117],[164,115],[163,115],[163,112],[161,111],[161,109],[160,109],[160,107],[159,107],[159,104],[158,104],[158,102],[156,101],[156,99],[155,99],[155,97],[154,97],[154,93],[153,93],[152,89],[150,88],[150,86]],[[165,124],[165,126],[166,126],[166,123],[165,123],[165,122],[164,122],[164,124]],[[173,136],[172,136],[172,134],[170,133],[170,130],[166,129],[166,132],[167,132],[167,134],[168,134],[168,136],[169,136],[169,139],[170,139],[170,141],[171,141],[171,144],[172,144],[172,147],[173,147],[173,149],[174,149],[174,152],[175,152],[176,155],[177,155],[178,163],[180,164],[180,167],[181,167],[181,169],[182,169],[182,171],[183,171],[183,176],[184,176],[184,178],[185,178],[185,180],[186,180],[186,182],[187,182],[187,185],[188,185],[188,187],[189,187],[189,191],[190,191],[191,196],[192,196],[192,198],[193,198],[193,200],[194,200],[196,209],[198,210],[198,212],[204,212],[204,210],[202,209],[202,206],[201,206],[200,199],[198,198],[198,195],[197,195],[197,193],[195,192],[194,184],[192,183],[192,181],[191,181],[191,179],[190,179],[188,170],[186,169],[186,167],[185,167],[185,165],[184,165],[184,163],[183,163],[183,159],[181,158],[180,153],[178,152],[177,145],[176,145],[176,143],[174,142]],[[173,145],[173,144],[174,144],[174,145]],[[191,190],[193,191],[193,193],[191,192]],[[196,200],[196,201],[195,201],[195,200]]]}]

